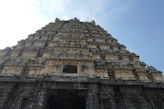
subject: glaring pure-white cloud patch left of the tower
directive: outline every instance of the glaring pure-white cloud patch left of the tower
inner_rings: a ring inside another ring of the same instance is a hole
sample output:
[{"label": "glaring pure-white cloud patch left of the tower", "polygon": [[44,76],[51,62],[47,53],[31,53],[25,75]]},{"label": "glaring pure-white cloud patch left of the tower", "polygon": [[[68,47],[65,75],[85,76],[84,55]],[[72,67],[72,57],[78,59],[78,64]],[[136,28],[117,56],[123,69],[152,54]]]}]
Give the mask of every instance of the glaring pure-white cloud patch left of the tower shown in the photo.
[{"label": "glaring pure-white cloud patch left of the tower", "polygon": [[0,3],[0,49],[13,46],[39,29],[43,22],[30,0],[4,0]]}]

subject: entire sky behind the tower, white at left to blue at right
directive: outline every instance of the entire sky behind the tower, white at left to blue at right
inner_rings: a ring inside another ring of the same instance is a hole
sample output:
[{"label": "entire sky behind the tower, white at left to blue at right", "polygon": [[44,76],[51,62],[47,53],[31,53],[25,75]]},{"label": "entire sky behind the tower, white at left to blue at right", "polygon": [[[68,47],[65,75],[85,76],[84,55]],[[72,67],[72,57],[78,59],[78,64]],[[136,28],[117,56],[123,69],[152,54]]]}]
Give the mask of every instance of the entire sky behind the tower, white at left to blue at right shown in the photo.
[{"label": "entire sky behind the tower, white at left to blue at right", "polygon": [[4,0],[0,13],[0,49],[56,17],[94,19],[141,61],[164,72],[164,0]]}]

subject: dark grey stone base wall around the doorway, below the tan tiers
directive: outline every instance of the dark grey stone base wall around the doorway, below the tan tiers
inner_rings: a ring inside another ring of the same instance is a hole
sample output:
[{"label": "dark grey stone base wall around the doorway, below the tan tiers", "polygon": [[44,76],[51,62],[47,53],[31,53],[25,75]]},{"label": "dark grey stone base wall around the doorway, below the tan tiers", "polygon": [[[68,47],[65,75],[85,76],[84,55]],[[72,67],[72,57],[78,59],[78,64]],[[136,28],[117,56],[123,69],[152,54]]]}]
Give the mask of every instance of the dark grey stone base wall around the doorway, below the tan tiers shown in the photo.
[{"label": "dark grey stone base wall around the doorway, below the tan tiers", "polygon": [[[1,109],[46,109],[48,90],[84,90],[86,109],[162,109],[164,89],[85,82],[20,82],[0,86]],[[53,93],[52,93],[53,94]]]}]

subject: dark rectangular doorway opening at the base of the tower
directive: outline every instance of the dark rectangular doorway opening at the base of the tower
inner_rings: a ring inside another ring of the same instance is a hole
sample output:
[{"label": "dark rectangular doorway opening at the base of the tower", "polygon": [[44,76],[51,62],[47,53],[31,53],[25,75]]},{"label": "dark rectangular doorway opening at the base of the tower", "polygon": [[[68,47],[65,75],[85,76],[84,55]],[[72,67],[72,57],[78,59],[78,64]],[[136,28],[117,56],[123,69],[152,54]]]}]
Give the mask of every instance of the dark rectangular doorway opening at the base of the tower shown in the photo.
[{"label": "dark rectangular doorway opening at the base of the tower", "polygon": [[85,96],[77,91],[57,91],[50,95],[47,109],[86,109]]}]

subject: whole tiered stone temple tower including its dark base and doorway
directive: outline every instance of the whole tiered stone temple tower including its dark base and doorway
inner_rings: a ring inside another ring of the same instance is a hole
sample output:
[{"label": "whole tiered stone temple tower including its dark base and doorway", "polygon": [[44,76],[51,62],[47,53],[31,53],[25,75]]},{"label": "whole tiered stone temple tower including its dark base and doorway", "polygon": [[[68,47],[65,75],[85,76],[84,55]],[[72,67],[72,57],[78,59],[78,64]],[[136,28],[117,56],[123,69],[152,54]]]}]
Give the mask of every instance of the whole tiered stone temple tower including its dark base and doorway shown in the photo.
[{"label": "whole tiered stone temple tower including its dark base and doorway", "polygon": [[0,109],[164,109],[164,78],[94,21],[56,19],[0,50]]}]

